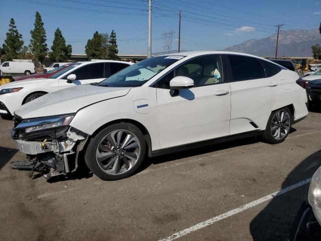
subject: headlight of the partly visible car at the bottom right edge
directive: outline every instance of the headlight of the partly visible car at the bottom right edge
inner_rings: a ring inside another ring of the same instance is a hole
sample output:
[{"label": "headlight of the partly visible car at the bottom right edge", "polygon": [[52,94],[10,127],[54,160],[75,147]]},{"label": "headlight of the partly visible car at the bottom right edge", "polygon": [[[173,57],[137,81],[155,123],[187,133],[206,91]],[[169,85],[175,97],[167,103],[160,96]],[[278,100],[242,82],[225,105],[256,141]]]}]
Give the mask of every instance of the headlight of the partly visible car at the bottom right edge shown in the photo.
[{"label": "headlight of the partly visible car at the bottom right edge", "polygon": [[307,200],[312,207],[316,220],[321,225],[321,167],[312,176]]}]

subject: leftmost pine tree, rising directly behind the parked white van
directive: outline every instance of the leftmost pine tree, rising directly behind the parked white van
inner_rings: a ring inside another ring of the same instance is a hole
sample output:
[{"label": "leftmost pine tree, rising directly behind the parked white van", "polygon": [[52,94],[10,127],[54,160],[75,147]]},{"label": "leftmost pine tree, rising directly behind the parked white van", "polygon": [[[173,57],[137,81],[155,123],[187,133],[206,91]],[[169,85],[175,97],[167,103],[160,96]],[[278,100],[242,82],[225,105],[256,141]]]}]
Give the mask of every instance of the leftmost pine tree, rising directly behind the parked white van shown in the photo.
[{"label": "leftmost pine tree, rising directly behind the parked white van", "polygon": [[5,60],[16,59],[22,46],[24,45],[24,41],[21,40],[22,35],[19,34],[14,19],[10,20],[9,27],[10,29],[7,33],[7,39],[5,40],[2,49]]}]

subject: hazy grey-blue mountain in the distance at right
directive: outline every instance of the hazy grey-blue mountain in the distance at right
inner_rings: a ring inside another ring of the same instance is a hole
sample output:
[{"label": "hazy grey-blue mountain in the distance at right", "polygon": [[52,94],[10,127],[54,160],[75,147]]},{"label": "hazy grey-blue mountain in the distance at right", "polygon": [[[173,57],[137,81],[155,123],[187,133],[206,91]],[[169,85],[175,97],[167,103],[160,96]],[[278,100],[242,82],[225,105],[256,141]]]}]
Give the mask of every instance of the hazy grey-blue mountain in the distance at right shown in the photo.
[{"label": "hazy grey-blue mountain in the distance at right", "polygon": [[[318,29],[282,31],[279,35],[278,56],[312,56],[311,46],[321,45],[321,34]],[[242,44],[226,48],[258,56],[274,56],[276,34],[263,39],[250,39]]]}]

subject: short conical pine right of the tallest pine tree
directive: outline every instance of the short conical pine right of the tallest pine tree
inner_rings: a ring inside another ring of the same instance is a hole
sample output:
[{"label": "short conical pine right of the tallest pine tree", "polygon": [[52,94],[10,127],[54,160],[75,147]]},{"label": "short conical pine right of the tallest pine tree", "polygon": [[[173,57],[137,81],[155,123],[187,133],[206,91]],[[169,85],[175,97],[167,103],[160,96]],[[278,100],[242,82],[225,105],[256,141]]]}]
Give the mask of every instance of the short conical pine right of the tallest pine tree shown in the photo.
[{"label": "short conical pine right of the tallest pine tree", "polygon": [[65,38],[62,36],[59,28],[55,32],[51,50],[52,52],[49,53],[49,58],[55,62],[65,62],[71,56],[72,47],[70,44],[66,46]]}]

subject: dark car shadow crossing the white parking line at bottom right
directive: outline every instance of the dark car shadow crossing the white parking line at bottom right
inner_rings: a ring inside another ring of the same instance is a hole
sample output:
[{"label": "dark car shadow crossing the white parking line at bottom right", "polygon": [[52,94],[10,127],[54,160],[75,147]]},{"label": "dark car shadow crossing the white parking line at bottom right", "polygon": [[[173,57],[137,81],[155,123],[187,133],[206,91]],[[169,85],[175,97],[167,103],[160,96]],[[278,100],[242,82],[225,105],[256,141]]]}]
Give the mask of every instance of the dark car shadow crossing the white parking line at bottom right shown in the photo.
[{"label": "dark car shadow crossing the white parking line at bottom right", "polygon": [[[313,153],[296,166],[287,175],[280,189],[310,178],[320,165],[321,150]],[[306,184],[274,197],[250,223],[253,240],[286,241],[299,207],[307,199],[308,186]]]}]

